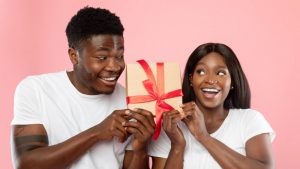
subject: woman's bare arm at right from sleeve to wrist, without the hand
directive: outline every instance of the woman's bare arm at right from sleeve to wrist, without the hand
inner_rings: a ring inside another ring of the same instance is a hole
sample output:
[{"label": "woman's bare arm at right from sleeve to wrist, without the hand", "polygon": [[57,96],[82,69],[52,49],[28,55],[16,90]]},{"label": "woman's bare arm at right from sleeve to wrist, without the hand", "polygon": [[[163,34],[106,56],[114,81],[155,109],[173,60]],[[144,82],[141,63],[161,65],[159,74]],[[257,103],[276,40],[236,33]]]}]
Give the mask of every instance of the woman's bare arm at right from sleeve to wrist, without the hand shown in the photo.
[{"label": "woman's bare arm at right from sleeve to wrist, without the hand", "polygon": [[217,139],[204,136],[197,140],[224,169],[273,169],[275,168],[268,134],[260,134],[246,143],[246,156],[230,149]]}]

